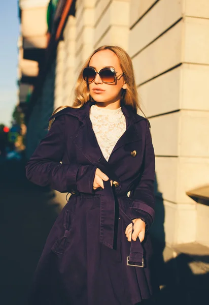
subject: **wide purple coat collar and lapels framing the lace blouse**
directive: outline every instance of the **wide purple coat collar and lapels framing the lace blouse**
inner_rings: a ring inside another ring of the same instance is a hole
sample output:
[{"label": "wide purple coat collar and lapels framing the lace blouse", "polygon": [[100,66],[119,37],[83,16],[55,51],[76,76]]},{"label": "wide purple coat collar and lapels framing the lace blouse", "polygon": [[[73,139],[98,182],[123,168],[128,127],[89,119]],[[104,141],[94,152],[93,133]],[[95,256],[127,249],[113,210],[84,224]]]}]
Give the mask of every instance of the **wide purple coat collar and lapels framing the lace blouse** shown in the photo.
[{"label": "wide purple coat collar and lapels framing the lace blouse", "polygon": [[98,145],[89,117],[90,107],[95,104],[96,103],[94,101],[88,101],[79,109],[72,107],[64,108],[63,110],[51,116],[50,119],[63,113],[76,116],[82,124],[79,126],[76,134],[73,136],[75,145],[84,155],[84,157],[89,160],[90,163],[97,166],[100,168],[100,170],[116,180],[117,177],[112,171],[112,166],[110,165],[111,157],[120,147],[123,147],[128,143],[140,141],[142,139],[142,134],[137,132],[135,123],[138,120],[144,119],[144,117],[138,116],[131,110],[131,108],[121,103],[121,109],[126,119],[126,130],[118,139],[112,150],[109,160],[107,161],[102,155],[102,151]]}]

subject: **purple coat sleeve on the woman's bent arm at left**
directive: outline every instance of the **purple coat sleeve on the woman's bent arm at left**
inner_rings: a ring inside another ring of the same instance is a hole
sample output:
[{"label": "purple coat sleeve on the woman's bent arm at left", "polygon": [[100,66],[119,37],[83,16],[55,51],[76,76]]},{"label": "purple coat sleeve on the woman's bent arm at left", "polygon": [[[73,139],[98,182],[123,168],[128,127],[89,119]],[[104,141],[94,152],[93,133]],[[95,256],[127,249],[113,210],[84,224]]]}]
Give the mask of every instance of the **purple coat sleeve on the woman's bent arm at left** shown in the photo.
[{"label": "purple coat sleeve on the woman's bent arm at left", "polygon": [[79,191],[92,194],[96,167],[60,163],[66,149],[65,142],[65,116],[59,115],[26,163],[27,179],[61,193]]}]

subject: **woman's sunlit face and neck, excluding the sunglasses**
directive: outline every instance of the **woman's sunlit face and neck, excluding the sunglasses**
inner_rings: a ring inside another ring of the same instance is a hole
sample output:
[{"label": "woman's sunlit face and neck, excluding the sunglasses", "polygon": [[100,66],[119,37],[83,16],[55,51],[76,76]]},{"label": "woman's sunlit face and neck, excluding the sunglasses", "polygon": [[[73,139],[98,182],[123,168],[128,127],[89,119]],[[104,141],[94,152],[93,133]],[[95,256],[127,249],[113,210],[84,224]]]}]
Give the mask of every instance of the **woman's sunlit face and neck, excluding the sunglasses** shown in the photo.
[{"label": "woman's sunlit face and neck, excluding the sunglasses", "polygon": [[[123,73],[118,56],[111,50],[102,50],[96,52],[90,59],[89,67],[94,68],[96,72],[99,72],[102,68],[111,67],[117,72],[117,76]],[[97,92],[95,88],[103,91]],[[119,104],[122,88],[126,89],[124,76],[120,75],[118,80],[111,84],[103,83],[99,74],[96,74],[95,79],[89,83],[89,93],[95,102],[104,103],[109,105],[112,103]],[[104,106],[105,106],[104,105]]]}]

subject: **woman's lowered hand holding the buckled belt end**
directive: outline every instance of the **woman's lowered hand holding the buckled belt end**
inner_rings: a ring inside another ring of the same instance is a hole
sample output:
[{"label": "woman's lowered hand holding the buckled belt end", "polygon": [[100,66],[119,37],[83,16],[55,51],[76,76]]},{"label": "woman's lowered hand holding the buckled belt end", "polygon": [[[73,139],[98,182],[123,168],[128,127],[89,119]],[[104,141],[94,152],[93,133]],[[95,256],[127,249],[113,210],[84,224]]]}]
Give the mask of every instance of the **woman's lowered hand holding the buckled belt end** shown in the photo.
[{"label": "woman's lowered hand holding the buckled belt end", "polygon": [[133,228],[133,234],[132,239],[135,241],[136,238],[140,238],[140,241],[142,242],[145,239],[145,227],[146,224],[141,218],[135,218],[132,220],[133,224],[130,223],[125,230],[126,237],[128,238],[128,241],[131,241],[131,233]]}]

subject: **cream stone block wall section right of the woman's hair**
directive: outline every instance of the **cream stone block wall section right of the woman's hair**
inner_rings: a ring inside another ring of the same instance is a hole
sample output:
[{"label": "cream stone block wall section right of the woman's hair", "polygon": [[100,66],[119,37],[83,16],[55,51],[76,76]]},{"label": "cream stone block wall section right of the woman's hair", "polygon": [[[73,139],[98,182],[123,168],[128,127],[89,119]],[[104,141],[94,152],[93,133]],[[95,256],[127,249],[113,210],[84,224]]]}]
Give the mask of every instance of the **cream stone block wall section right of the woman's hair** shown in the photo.
[{"label": "cream stone block wall section right of the woman's hair", "polygon": [[209,3],[134,0],[130,14],[128,51],[152,128],[165,241],[209,246],[209,208],[186,195],[209,180]]}]

